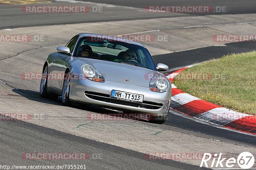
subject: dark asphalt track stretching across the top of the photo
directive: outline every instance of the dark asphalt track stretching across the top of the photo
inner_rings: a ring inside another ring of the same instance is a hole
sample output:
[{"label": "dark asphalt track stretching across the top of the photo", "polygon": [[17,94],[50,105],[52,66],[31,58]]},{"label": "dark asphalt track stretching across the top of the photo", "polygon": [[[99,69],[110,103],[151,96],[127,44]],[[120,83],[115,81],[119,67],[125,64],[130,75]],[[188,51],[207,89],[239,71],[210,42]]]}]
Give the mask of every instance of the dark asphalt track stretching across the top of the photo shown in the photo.
[{"label": "dark asphalt track stretching across the top of the photo", "polygon": [[[16,28],[22,26],[44,26],[44,25],[56,25],[56,24],[72,24],[72,23],[85,23],[85,22],[108,22],[118,20],[134,20],[134,19],[149,19],[149,18],[164,18],[164,17],[179,17],[179,16],[191,16],[191,15],[219,15],[219,14],[250,14],[255,13],[255,1],[254,0],[159,0],[159,1],[126,1],[126,0],[94,0],[90,1],[94,3],[94,6],[101,6],[97,3],[112,4],[113,7],[103,6],[103,12],[97,13],[24,13],[21,8],[24,4],[1,4],[0,1],[0,16],[1,24],[0,29],[4,28]],[[39,5],[76,5],[76,3],[68,2],[55,2],[41,3]],[[61,0],[60,0],[61,1]],[[64,0],[65,1],[65,0]],[[83,0],[84,1],[84,0]],[[12,1],[11,1],[12,2]],[[86,1],[85,1],[86,2]],[[26,4],[35,5],[35,4]],[[37,4],[38,5],[38,4]],[[88,5],[88,4],[84,4]],[[116,6],[115,6],[116,5]],[[211,13],[148,13],[145,12],[147,6],[226,6],[226,12],[211,12]],[[139,12],[134,12],[133,9],[122,9],[118,6],[127,6],[136,9],[140,9]]]}]

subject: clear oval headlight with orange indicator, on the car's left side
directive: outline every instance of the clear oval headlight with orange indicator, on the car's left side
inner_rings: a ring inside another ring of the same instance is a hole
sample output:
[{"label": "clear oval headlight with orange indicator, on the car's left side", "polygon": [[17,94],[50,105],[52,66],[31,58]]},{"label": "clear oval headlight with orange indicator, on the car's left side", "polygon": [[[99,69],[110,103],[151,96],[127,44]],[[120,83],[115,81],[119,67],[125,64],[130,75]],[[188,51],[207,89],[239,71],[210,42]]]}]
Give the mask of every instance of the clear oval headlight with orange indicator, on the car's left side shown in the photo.
[{"label": "clear oval headlight with orange indicator, on the car's left side", "polygon": [[97,71],[90,65],[84,65],[82,67],[82,73],[84,74],[84,77],[92,80],[92,81],[98,81],[98,82],[105,82],[105,79],[103,78],[100,71]]}]

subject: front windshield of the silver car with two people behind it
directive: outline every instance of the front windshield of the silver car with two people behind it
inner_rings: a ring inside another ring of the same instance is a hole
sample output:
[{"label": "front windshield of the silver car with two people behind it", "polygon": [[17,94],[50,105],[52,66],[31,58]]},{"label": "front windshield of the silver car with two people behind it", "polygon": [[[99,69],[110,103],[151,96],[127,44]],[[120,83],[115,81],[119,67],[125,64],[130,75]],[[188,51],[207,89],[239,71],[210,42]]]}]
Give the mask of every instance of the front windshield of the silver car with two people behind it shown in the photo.
[{"label": "front windshield of the silver car with two people behind it", "polygon": [[79,40],[74,56],[108,60],[156,70],[148,50],[139,45],[111,39],[83,37]]}]

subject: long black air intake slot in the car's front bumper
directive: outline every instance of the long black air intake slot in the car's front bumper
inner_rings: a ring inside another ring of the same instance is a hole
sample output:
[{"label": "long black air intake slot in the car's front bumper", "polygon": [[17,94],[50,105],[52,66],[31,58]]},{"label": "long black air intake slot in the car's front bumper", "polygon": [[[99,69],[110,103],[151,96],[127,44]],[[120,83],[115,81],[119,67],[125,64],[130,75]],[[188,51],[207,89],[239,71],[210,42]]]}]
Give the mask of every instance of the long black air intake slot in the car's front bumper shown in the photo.
[{"label": "long black air intake slot in the car's front bumper", "polygon": [[133,103],[129,101],[123,101],[123,100],[116,100],[110,98],[109,94],[102,94],[98,92],[89,92],[85,91],[84,94],[94,100],[104,101],[108,103],[115,103],[120,105],[126,105],[126,106],[132,106],[132,107],[139,107],[139,108],[146,108],[146,109],[159,109],[163,107],[162,103],[155,103],[150,101],[143,101],[143,103]]}]

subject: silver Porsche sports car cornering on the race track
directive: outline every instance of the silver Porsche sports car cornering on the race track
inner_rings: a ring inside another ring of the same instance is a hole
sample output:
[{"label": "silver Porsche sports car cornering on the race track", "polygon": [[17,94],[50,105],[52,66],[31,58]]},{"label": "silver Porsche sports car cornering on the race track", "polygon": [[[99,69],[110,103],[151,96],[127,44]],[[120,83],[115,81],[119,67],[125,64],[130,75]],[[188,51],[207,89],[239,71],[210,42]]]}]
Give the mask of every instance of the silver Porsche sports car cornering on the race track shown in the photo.
[{"label": "silver Porsche sports car cornering on the race track", "polygon": [[50,54],[43,68],[40,95],[73,102],[142,113],[149,122],[164,123],[170,108],[171,82],[158,71],[144,45],[93,33],[74,36]]}]

